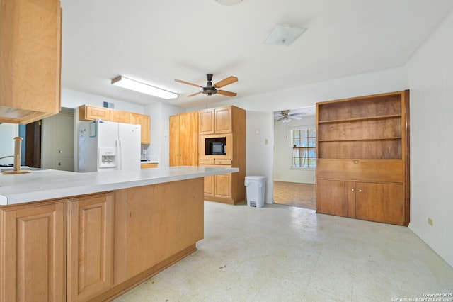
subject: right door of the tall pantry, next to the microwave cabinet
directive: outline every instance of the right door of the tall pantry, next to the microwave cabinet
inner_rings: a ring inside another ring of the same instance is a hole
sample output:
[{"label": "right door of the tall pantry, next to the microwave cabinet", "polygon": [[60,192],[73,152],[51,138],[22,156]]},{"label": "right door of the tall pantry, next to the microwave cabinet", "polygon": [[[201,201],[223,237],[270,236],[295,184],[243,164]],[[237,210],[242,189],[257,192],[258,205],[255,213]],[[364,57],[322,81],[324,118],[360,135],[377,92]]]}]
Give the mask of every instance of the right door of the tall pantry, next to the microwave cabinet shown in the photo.
[{"label": "right door of the tall pantry, next to the microwave cabinet", "polygon": [[198,165],[198,113],[190,112],[179,118],[180,166]]}]

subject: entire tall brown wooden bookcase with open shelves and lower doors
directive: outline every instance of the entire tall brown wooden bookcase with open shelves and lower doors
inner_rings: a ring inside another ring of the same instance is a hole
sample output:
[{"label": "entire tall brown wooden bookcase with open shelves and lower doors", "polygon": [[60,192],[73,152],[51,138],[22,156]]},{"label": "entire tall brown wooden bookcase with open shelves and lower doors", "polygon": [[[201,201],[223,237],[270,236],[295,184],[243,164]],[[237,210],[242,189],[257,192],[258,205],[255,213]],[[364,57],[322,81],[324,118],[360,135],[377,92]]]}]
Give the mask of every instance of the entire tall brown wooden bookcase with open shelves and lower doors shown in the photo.
[{"label": "entire tall brown wooden bookcase with open shelves and lower doors", "polygon": [[316,104],[316,211],[408,225],[409,91]]}]

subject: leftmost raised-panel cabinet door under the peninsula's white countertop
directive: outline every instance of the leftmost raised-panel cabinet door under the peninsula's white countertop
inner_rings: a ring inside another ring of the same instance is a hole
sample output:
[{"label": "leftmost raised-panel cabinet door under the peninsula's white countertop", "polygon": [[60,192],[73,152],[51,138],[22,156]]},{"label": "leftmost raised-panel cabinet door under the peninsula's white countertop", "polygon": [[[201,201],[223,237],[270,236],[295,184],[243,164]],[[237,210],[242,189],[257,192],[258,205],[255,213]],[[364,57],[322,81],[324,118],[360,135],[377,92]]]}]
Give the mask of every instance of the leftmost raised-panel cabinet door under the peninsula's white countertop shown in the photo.
[{"label": "leftmost raised-panel cabinet door under the peninsula's white countertop", "polygon": [[65,301],[66,201],[0,211],[0,301]]}]

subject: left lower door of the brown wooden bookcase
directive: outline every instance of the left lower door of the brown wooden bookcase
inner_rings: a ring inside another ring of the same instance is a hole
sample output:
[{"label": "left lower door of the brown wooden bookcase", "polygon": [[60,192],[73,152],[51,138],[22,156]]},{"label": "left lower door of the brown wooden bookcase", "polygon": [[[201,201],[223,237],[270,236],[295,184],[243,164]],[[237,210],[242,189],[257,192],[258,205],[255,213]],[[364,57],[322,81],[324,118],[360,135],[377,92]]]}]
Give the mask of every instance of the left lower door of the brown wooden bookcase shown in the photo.
[{"label": "left lower door of the brown wooden bookcase", "polygon": [[355,182],[318,179],[316,212],[355,218]]}]

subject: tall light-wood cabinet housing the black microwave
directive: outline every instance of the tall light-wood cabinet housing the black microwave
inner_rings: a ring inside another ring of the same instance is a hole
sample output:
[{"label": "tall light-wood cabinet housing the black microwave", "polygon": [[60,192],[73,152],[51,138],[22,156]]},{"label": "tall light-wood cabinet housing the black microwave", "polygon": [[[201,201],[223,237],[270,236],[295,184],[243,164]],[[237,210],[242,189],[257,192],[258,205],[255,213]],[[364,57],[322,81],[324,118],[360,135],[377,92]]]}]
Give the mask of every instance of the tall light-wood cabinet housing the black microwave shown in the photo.
[{"label": "tall light-wood cabinet housing the black microwave", "polygon": [[[212,144],[224,146],[212,154]],[[236,106],[200,111],[200,166],[238,167],[238,173],[205,177],[205,200],[235,204],[246,198],[246,111]]]}]

